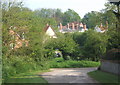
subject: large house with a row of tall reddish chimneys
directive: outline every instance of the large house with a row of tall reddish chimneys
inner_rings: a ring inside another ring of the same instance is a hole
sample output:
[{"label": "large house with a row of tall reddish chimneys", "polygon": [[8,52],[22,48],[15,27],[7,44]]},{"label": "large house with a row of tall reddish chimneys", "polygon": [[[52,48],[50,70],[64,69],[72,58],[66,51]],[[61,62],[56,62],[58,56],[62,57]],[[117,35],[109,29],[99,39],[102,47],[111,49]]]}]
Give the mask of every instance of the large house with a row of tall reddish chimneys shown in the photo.
[{"label": "large house with a row of tall reddish chimneys", "polygon": [[66,32],[85,32],[87,29],[86,24],[82,24],[79,22],[71,22],[68,23],[67,25],[63,26],[62,23],[60,23],[59,26],[59,32],[61,33],[66,33]]}]

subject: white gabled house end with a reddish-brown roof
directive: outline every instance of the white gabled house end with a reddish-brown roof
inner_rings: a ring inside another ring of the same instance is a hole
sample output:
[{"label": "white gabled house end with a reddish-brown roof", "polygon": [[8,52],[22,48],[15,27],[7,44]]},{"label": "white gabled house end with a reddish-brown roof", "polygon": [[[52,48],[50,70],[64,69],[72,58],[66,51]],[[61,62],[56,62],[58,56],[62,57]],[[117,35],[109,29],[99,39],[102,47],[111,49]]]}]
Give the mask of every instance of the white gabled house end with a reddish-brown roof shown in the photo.
[{"label": "white gabled house end with a reddish-brown roof", "polygon": [[50,38],[57,38],[54,30],[51,28],[51,26],[47,25],[44,28],[45,34],[48,35]]}]

